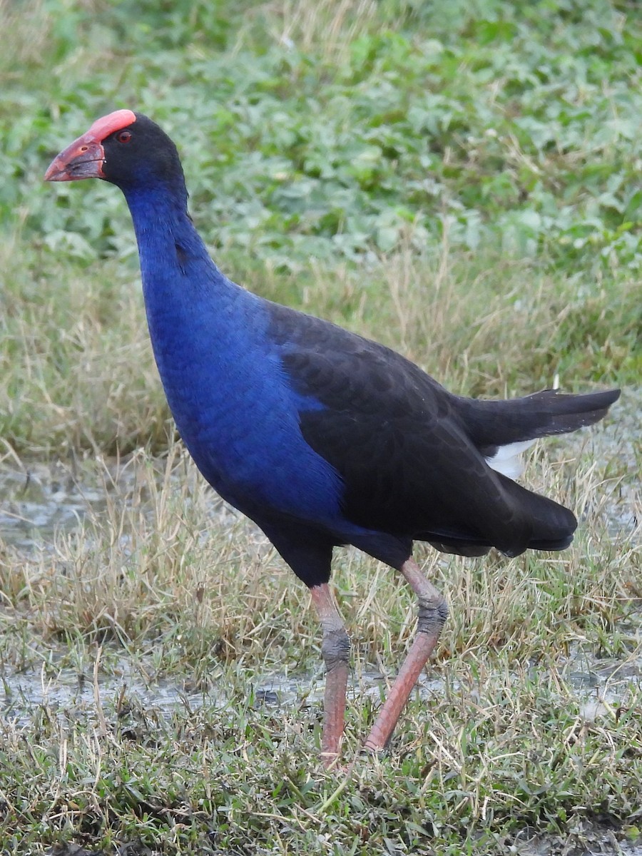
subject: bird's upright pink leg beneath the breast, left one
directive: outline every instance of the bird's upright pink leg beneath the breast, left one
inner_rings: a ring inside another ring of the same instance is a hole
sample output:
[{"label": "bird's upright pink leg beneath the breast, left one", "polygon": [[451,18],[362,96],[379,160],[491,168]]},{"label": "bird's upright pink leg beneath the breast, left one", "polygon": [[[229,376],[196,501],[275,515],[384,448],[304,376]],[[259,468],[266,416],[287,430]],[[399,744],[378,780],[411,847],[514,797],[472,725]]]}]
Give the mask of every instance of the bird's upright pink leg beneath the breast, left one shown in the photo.
[{"label": "bird's upright pink leg beneath the breast, left one", "polygon": [[346,710],[348,686],[348,652],[350,639],[336,609],[327,583],[312,586],[312,603],[317,609],[324,638],[321,653],[325,662],[324,730],[321,738],[321,758],[330,767],[339,757],[339,744],[343,734],[343,716]]}]

